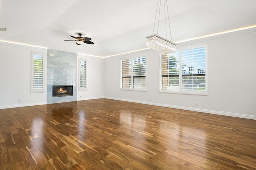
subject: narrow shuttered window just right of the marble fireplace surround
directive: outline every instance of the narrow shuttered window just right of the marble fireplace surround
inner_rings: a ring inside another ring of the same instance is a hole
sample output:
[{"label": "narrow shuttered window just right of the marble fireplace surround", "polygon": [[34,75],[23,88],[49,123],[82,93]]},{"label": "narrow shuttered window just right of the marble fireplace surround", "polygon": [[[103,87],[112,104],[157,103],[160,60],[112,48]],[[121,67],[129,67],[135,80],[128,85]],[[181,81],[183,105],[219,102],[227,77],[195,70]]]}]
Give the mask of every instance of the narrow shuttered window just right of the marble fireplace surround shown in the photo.
[{"label": "narrow shuttered window just right of the marble fireplace surround", "polygon": [[79,59],[79,90],[86,90],[86,59]]}]

